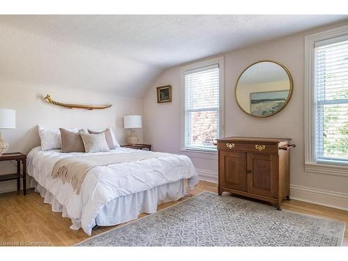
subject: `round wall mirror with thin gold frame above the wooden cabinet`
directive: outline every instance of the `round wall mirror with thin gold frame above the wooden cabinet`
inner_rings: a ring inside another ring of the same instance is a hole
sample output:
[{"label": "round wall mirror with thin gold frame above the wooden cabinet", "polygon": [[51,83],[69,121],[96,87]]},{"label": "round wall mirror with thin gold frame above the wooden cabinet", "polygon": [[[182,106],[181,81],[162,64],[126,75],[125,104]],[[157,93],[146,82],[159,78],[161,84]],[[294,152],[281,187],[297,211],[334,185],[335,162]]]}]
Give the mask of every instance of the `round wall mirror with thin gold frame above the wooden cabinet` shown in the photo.
[{"label": "round wall mirror with thin gold frame above the wooden cabinet", "polygon": [[235,87],[235,99],[242,111],[268,117],[281,111],[292,95],[292,77],[280,63],[260,61],[246,68]]}]

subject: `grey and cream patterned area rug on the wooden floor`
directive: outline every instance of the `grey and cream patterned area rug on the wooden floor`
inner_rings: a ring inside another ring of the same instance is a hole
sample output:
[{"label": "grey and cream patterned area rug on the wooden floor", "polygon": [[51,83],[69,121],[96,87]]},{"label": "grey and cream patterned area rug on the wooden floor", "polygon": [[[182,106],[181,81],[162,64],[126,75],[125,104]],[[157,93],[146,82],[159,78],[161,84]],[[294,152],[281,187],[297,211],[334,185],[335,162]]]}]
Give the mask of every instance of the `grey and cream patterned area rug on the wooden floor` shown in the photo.
[{"label": "grey and cream patterned area rug on the wooden floor", "polygon": [[345,223],[203,192],[77,246],[340,246]]}]

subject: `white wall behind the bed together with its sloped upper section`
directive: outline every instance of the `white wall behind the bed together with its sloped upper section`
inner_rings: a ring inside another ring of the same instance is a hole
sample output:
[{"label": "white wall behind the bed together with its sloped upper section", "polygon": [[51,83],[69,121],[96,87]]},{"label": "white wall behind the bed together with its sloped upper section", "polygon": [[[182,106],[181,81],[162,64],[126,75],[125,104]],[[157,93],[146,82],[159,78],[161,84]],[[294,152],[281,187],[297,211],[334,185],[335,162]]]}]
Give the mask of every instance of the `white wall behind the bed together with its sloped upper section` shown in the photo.
[{"label": "white wall behind the bed together with its sloped upper section", "polygon": [[[147,84],[143,77],[135,79],[134,73],[150,79],[153,68],[122,54],[116,56],[107,49],[95,49],[88,42],[78,45],[65,38],[41,35],[31,28],[9,26],[3,21],[0,31],[0,109],[15,109],[17,116],[16,129],[0,129],[10,143],[9,152],[27,153],[40,145],[38,125],[112,127],[119,143],[126,143],[122,117],[143,113],[139,86]],[[133,87],[139,90],[136,98],[132,97]],[[42,101],[47,94],[61,102],[112,103],[113,106],[94,111],[71,110]],[[138,133],[141,141],[141,130]],[[0,175],[13,171],[12,164],[0,162]],[[0,182],[0,192],[15,189],[15,183]]]}]

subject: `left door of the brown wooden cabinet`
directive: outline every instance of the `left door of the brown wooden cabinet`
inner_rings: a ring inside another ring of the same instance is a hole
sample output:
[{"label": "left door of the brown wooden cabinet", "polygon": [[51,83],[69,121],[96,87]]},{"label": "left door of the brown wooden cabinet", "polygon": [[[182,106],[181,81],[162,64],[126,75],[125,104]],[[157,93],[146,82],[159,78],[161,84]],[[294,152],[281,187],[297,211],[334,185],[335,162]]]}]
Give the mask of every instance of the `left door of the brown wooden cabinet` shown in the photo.
[{"label": "left door of the brown wooden cabinet", "polygon": [[246,153],[219,151],[221,187],[246,191]]}]

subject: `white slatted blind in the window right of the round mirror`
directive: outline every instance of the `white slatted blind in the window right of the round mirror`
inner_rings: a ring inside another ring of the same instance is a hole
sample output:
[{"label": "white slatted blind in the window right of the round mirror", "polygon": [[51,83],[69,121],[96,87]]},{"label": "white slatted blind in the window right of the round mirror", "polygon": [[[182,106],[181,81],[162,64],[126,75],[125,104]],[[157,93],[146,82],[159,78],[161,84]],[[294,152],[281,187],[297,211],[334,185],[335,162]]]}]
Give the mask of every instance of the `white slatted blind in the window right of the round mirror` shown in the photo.
[{"label": "white slatted blind in the window right of the round mirror", "polygon": [[315,44],[317,161],[348,164],[348,38]]}]

